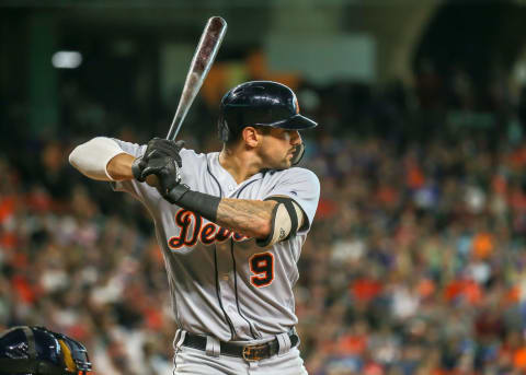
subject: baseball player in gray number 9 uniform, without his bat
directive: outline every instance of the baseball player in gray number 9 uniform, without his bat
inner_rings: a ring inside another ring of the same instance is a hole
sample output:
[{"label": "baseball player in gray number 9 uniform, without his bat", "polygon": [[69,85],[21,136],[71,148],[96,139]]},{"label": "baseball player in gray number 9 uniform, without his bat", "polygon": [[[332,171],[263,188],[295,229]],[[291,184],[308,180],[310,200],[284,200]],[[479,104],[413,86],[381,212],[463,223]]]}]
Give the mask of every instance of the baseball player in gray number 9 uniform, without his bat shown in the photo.
[{"label": "baseball player in gray number 9 uniform, without his bat", "polygon": [[[316,126],[290,89],[256,81],[221,99],[220,152],[102,137],[71,152],[81,173],[132,194],[153,219],[179,327],[175,374],[307,374],[293,286],[320,185],[294,165],[298,131]],[[145,183],[153,175],[155,187]]]}]

